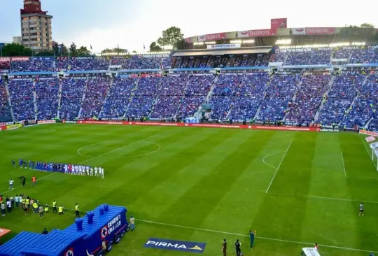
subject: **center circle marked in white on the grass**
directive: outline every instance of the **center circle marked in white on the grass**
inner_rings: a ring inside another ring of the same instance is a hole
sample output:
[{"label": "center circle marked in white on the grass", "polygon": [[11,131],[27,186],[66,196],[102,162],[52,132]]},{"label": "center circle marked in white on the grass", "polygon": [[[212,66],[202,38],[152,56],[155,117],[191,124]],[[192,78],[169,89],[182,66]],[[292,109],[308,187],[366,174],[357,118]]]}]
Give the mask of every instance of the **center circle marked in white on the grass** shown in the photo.
[{"label": "center circle marked in white on the grass", "polygon": [[[100,145],[100,146],[99,146]],[[102,145],[102,146],[101,146]],[[114,145],[114,147],[112,147]],[[106,152],[102,150],[106,150]],[[121,152],[121,150],[134,150],[137,148],[139,152],[130,152],[130,154],[125,156],[109,157],[113,153]],[[128,158],[128,157],[141,157],[144,155],[150,155],[157,152],[162,148],[158,143],[151,141],[103,141],[100,143],[94,143],[90,145],[85,145],[83,148],[78,149],[78,155],[83,157],[95,157],[104,159],[117,159],[117,158]],[[97,151],[97,154],[94,154]]]}]

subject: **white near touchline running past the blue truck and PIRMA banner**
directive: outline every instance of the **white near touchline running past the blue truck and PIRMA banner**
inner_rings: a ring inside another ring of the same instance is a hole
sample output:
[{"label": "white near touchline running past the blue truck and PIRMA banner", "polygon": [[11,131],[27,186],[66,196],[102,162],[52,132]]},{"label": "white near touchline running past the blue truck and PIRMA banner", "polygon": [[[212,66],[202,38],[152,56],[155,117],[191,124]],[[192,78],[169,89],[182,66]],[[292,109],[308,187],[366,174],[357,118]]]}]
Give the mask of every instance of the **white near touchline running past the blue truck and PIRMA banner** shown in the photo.
[{"label": "white near touchline running past the blue truck and PIRMA banner", "polygon": [[[75,211],[72,208],[64,208],[64,209]],[[86,213],[86,211],[80,211],[80,212]],[[67,214],[73,215],[71,213],[67,213]],[[214,230],[214,229],[202,229],[200,227],[188,227],[188,226],[175,225],[175,224],[169,224],[169,223],[163,223],[163,222],[155,222],[155,221],[151,221],[151,220],[140,220],[140,219],[135,219],[135,220],[139,220],[140,222],[146,222],[146,223],[151,223],[151,224],[155,224],[155,225],[168,226],[168,227],[179,227],[179,228],[182,228],[182,229],[193,229],[193,230],[198,230],[198,231],[203,231],[203,232],[211,232],[211,233],[218,233],[218,234],[228,234],[228,235],[231,235],[231,236],[245,236],[245,237],[249,237],[249,235],[246,235],[246,234],[237,234],[237,233],[232,233],[232,232],[223,232],[223,231],[218,231],[218,230]],[[300,242],[300,241],[291,241],[291,240],[285,240],[285,239],[272,239],[270,237],[265,237],[265,236],[256,236],[256,238],[257,239],[263,239],[263,240],[270,240],[270,241],[279,241],[279,242],[283,242],[283,243],[297,243],[297,244],[310,245],[310,246],[314,245],[314,243],[307,243],[307,242]],[[327,246],[327,245],[323,245],[323,244],[320,244],[320,246],[321,247],[325,247],[325,248],[335,248],[335,249],[341,249],[341,250],[353,250],[353,251],[356,251],[356,252],[364,252],[364,253],[378,253],[378,252],[374,252],[373,250],[362,250],[362,249],[339,247],[339,246]]]}]

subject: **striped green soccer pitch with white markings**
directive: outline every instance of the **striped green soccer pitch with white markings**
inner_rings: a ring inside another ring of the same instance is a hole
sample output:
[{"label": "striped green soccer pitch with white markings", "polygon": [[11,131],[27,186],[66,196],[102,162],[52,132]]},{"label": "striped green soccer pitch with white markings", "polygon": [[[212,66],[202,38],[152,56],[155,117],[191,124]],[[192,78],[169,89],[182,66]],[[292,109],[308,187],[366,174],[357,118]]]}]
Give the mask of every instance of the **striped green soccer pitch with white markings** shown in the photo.
[{"label": "striped green soccer pitch with white markings", "polygon": [[[126,206],[137,229],[110,255],[193,255],[144,248],[149,238],[207,243],[202,255],[222,255],[222,239],[229,255],[236,239],[244,255],[299,255],[314,243],[322,256],[378,252],[378,172],[356,133],[56,124],[1,131],[0,145],[3,196],[82,211]],[[20,158],[102,166],[105,178],[12,168]],[[7,191],[10,178],[15,189]],[[12,230],[10,239],[74,219],[73,211],[41,219],[17,209],[0,227]],[[253,251],[249,229],[257,231]]]}]

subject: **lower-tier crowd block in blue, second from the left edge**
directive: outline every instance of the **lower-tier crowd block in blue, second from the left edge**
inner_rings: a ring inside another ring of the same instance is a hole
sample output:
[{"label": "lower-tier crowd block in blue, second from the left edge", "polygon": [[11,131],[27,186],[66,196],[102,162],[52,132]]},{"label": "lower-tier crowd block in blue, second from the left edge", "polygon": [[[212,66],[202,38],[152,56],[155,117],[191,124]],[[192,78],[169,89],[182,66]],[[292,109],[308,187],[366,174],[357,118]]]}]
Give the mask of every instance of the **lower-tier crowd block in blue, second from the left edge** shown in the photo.
[{"label": "lower-tier crowd block in blue, second from the left edge", "polygon": [[31,79],[10,79],[8,89],[15,120],[34,120],[33,81]]}]

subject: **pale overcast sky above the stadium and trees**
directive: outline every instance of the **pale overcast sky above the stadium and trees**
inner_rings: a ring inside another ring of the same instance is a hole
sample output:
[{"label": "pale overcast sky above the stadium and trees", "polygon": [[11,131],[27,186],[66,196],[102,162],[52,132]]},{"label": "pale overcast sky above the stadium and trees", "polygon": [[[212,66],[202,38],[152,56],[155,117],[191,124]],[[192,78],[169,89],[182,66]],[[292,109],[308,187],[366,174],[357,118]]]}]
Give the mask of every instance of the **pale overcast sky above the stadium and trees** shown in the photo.
[{"label": "pale overcast sky above the stadium and trees", "polygon": [[[270,19],[287,17],[288,27],[344,27],[364,22],[378,27],[378,0],[42,0],[53,15],[52,38],[66,45],[146,50],[162,30],[180,27],[186,37],[269,29]],[[22,0],[1,0],[0,43],[20,36]]]}]

